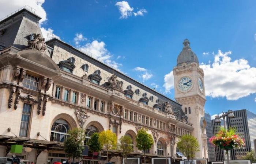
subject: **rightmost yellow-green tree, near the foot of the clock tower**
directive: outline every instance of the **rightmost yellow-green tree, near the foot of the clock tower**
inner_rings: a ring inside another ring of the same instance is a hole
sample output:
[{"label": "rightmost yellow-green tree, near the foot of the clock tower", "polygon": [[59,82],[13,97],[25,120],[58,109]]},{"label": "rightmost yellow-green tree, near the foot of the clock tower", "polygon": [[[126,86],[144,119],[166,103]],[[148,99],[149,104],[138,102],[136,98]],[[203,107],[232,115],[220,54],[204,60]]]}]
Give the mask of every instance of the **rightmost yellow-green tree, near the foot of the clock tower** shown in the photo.
[{"label": "rightmost yellow-green tree, near the foot of the clock tower", "polygon": [[177,147],[187,157],[188,160],[195,158],[196,152],[199,151],[199,143],[196,138],[187,134],[181,136]]}]

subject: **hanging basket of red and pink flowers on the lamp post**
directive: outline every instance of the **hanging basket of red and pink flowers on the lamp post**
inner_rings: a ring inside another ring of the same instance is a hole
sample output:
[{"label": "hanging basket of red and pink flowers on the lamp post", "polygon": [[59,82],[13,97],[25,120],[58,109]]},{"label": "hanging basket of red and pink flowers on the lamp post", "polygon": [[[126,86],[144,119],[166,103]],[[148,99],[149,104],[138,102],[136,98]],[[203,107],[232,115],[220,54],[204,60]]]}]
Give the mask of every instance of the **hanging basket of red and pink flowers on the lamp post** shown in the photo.
[{"label": "hanging basket of red and pink flowers on the lamp post", "polygon": [[244,138],[241,138],[236,134],[235,128],[230,128],[229,130],[221,128],[216,136],[212,136],[209,141],[213,145],[219,146],[226,151],[245,146]]}]

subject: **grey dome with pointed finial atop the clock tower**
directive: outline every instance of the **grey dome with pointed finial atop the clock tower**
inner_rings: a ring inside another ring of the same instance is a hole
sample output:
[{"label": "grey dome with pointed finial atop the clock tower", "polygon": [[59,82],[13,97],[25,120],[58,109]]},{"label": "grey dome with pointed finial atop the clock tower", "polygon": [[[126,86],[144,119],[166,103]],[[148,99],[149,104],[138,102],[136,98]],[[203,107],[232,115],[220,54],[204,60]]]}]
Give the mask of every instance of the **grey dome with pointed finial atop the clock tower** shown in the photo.
[{"label": "grey dome with pointed finial atop the clock tower", "polygon": [[182,51],[180,52],[177,58],[177,66],[180,66],[184,62],[187,64],[192,62],[196,62],[197,64],[199,64],[198,58],[196,54],[189,47],[189,44],[190,44],[189,40],[185,39],[183,42]]}]

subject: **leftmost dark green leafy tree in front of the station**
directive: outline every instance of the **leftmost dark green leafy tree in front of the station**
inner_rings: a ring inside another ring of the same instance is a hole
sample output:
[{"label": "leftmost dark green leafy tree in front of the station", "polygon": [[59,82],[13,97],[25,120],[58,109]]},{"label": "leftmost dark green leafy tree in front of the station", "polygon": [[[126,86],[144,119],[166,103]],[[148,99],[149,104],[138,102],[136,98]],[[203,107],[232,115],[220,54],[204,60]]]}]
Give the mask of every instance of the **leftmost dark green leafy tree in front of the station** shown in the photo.
[{"label": "leftmost dark green leafy tree in front of the station", "polygon": [[80,157],[82,155],[83,149],[84,149],[84,139],[85,139],[85,134],[84,130],[80,128],[75,128],[72,130],[68,131],[68,137],[64,142],[64,147],[65,147],[65,153],[69,157],[73,157],[73,162],[74,158]]}]

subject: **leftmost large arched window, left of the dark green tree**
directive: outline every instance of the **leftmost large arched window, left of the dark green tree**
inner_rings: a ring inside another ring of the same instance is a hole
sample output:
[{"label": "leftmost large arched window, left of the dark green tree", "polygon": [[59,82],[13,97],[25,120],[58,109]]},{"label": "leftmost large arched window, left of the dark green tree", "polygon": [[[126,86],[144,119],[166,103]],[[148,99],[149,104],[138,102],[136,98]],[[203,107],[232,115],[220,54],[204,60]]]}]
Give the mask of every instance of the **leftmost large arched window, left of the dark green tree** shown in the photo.
[{"label": "leftmost large arched window, left of the dark green tree", "polygon": [[50,140],[64,142],[67,139],[69,129],[70,128],[67,121],[63,119],[56,120],[52,125]]}]

